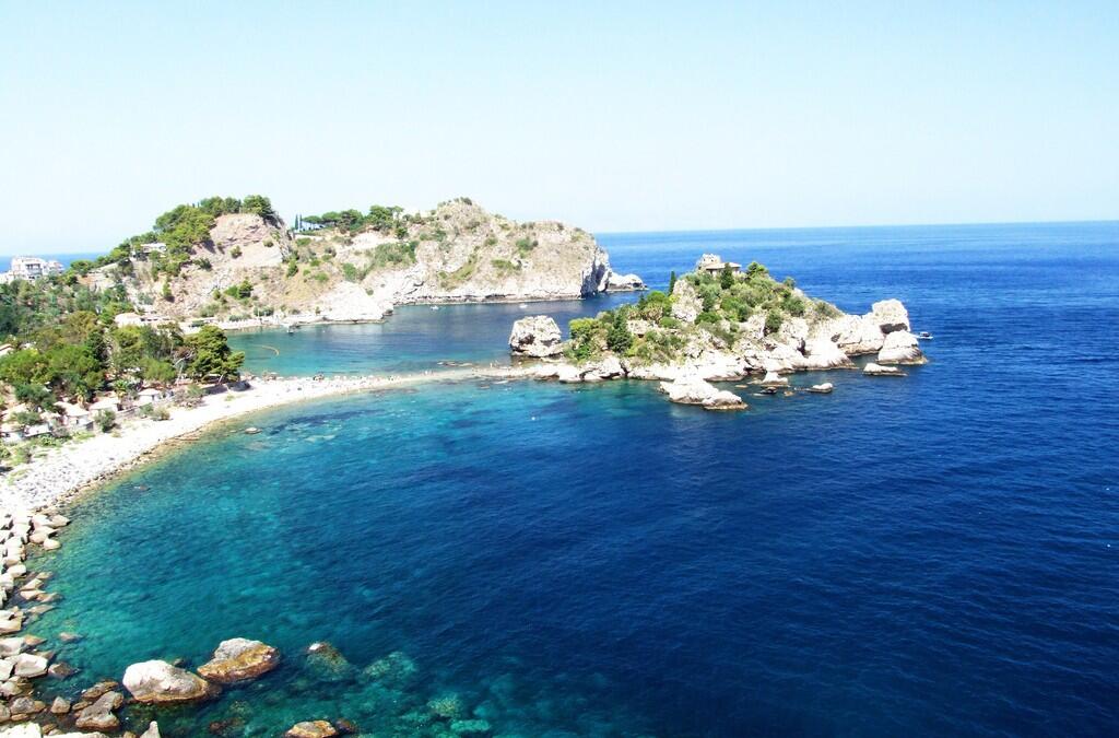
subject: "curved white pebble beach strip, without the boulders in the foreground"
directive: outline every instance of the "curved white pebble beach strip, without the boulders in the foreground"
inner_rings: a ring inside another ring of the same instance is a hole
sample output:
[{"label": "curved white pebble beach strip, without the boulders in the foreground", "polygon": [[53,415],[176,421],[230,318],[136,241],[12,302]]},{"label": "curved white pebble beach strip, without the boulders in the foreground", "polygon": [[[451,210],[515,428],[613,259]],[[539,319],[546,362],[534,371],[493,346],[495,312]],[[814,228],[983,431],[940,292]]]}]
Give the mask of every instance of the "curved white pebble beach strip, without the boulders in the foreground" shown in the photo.
[{"label": "curved white pebble beach strip, without the boulders in the foreground", "polygon": [[129,420],[98,433],[36,456],[0,479],[0,510],[35,512],[65,502],[137,464],[167,443],[197,435],[215,423],[269,408],[357,392],[432,382],[530,376],[520,367],[463,367],[389,376],[253,380],[247,390],[204,398],[196,408],[171,408],[168,420]]}]

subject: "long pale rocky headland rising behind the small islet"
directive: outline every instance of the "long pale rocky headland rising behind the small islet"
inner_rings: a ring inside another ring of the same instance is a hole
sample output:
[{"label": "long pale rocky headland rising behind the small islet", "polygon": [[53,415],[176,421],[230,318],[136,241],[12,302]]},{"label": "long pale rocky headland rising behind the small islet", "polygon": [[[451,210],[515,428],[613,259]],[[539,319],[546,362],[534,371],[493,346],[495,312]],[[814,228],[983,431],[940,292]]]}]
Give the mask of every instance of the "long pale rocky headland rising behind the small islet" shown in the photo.
[{"label": "long pale rocky headland rising behind the small islet", "polygon": [[[385,208],[386,211],[388,208]],[[466,198],[366,227],[293,233],[279,217],[218,215],[169,270],[160,244],[92,271],[150,316],[175,319],[376,320],[394,305],[582,298],[643,289],[619,275],[585,231],[517,223]]]}]

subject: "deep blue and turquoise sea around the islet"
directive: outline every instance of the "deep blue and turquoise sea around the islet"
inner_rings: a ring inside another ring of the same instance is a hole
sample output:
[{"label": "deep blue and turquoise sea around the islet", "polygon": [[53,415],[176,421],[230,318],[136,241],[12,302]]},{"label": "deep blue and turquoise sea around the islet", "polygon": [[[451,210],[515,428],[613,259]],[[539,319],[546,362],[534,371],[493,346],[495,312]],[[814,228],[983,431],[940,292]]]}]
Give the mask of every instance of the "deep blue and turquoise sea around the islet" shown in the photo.
[{"label": "deep blue and turquoise sea around the islet", "polygon": [[[62,691],[245,636],[283,665],[164,736],[1119,732],[1119,224],[601,242],[653,286],[708,251],[848,311],[901,298],[931,361],[732,414],[462,382],[246,418],[75,505],[32,627],[85,636],[50,644],[83,670]],[[501,362],[518,315],[619,299],[235,340],[281,373]]]}]

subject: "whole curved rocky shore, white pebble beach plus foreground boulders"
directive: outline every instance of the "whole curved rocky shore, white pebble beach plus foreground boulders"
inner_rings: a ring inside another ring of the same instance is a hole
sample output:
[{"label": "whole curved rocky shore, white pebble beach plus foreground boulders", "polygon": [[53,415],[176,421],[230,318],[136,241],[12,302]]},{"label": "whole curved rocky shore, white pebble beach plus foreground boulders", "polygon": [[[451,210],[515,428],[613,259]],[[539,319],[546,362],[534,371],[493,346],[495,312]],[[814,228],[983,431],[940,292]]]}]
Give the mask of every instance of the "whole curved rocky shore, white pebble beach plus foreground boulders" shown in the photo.
[{"label": "whole curved rocky shore, white pebble beach plus foreground boulders", "polygon": [[[58,512],[59,504],[143,463],[172,441],[195,438],[215,423],[232,421],[246,413],[347,393],[432,382],[526,376],[532,376],[528,367],[458,367],[395,376],[256,380],[243,391],[209,395],[199,407],[177,408],[169,420],[135,420],[114,433],[72,442],[34,459],[18,470],[16,478],[8,478],[0,492],[0,551],[3,555],[0,562],[0,738],[115,734],[122,725],[117,712],[126,701],[162,706],[213,699],[224,685],[261,678],[281,660],[279,650],[273,646],[233,637],[218,644],[210,661],[200,665],[197,673],[162,661],[139,662],[125,671],[120,682],[97,682],[74,701],[59,697],[48,704],[38,699],[36,681],[60,681],[75,674],[69,664],[58,658],[57,646],[81,639],[77,634],[59,633],[56,636],[59,643],[50,644],[26,633],[28,626],[62,598],[60,592],[46,589],[51,573],[32,569],[27,563],[32,547],[43,551],[62,547],[58,532],[69,525],[70,520]],[[246,428],[245,432],[253,430]],[[329,644],[312,644],[304,658],[310,665],[323,662],[329,669],[345,663]],[[373,670],[370,674],[395,673],[395,667],[386,667],[380,662],[369,669]],[[432,719],[442,718],[433,716]],[[466,726],[471,721],[459,722]],[[468,729],[472,727],[476,726],[466,726],[463,735],[470,734]],[[292,726],[285,735],[295,738],[339,736],[352,732],[351,728],[344,719],[335,722],[311,720]],[[134,732],[122,735],[137,738]],[[139,738],[159,736],[159,726],[152,721]]]}]

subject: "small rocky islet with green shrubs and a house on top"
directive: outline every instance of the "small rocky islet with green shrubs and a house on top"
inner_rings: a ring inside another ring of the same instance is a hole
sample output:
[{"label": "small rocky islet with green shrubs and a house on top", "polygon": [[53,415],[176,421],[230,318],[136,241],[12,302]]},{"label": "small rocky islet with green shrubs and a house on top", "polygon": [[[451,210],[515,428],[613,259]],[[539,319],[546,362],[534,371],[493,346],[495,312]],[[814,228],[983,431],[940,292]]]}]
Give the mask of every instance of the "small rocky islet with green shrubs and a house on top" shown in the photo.
[{"label": "small rocky islet with green shrubs and a house on top", "polygon": [[[704,254],[695,270],[632,303],[572,320],[563,340],[547,316],[521,318],[509,337],[514,356],[547,359],[540,379],[561,382],[657,380],[673,402],[737,410],[745,402],[713,381],[761,375],[760,384],[788,384],[782,375],[853,368],[852,357],[876,355],[864,373],[903,375],[896,365],[923,364],[909,312],[899,300],[847,315],[812,299],[792,278],[778,281],[754,262],[745,270]],[[817,392],[829,392],[819,385]]]}]

